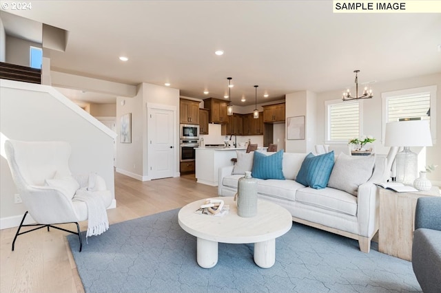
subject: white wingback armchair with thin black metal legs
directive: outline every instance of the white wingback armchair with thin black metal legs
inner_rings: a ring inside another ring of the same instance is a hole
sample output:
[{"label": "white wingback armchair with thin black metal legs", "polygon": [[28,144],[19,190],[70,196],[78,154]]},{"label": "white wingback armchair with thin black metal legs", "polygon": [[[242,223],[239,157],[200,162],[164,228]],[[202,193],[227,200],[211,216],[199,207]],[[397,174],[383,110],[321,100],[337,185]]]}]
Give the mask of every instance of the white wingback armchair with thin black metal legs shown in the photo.
[{"label": "white wingback armchair with thin black metal legs", "polygon": [[[88,182],[89,175],[72,177],[68,166],[71,153],[68,142],[7,140],[5,151],[12,179],[27,209],[12,241],[12,250],[19,235],[45,227],[49,231],[52,227],[78,235],[81,252],[82,241],[78,222],[88,219],[88,207],[85,202],[74,201],[72,197],[77,189],[88,188],[94,195],[101,197],[104,206],[108,208],[112,204],[112,193],[106,189],[103,178],[96,175],[91,186]],[[58,183],[48,185],[48,182]],[[23,224],[28,214],[36,224]],[[76,224],[77,232],[52,226],[54,224]],[[25,226],[37,228],[20,232]]]}]

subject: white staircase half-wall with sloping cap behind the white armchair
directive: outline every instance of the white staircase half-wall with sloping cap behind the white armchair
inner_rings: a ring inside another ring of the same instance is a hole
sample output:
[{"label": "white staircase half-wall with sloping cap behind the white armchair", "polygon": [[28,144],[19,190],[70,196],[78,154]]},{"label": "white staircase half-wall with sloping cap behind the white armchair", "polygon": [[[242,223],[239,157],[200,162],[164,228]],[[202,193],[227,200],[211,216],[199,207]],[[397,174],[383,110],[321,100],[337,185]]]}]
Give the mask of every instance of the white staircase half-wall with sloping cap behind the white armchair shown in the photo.
[{"label": "white staircase half-wall with sloping cap behind the white armchair", "polygon": [[[52,87],[1,80],[0,131],[13,140],[63,140],[72,146],[72,173],[101,175],[114,196],[113,133]],[[14,204],[17,189],[1,157],[1,228],[18,226],[25,207]]]}]

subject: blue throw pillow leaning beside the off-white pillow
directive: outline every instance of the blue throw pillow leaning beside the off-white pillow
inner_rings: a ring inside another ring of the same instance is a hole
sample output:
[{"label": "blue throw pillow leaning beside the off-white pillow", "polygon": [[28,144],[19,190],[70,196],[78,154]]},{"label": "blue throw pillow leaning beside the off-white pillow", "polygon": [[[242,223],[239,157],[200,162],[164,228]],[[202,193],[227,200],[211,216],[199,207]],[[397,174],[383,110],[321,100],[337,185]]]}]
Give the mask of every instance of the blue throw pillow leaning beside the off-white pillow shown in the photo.
[{"label": "blue throw pillow leaning beside the off-white pillow", "polygon": [[309,153],[302,162],[296,181],[315,189],[325,188],[334,166],[334,151],[322,155]]}]

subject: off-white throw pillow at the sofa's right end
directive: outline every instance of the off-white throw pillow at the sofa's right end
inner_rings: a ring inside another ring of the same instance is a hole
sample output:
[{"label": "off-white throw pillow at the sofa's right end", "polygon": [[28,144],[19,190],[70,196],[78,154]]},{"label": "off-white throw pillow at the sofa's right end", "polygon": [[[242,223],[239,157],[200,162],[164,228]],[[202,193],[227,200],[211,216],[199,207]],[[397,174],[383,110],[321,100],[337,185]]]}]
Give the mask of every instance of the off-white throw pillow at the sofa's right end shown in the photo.
[{"label": "off-white throw pillow at the sofa's right end", "polygon": [[328,186],[357,195],[358,186],[372,176],[375,155],[349,156],[340,153],[329,177]]}]

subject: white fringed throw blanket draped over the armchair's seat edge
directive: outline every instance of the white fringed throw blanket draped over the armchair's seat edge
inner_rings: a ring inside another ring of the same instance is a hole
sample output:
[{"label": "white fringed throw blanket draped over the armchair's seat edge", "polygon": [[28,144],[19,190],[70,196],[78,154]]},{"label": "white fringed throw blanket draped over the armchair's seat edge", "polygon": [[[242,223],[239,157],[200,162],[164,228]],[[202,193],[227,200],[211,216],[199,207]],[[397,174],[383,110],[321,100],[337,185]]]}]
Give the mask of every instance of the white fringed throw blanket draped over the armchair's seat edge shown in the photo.
[{"label": "white fringed throw blanket draped over the armchair's seat edge", "polygon": [[89,236],[101,235],[107,231],[109,228],[109,220],[107,219],[107,210],[101,197],[94,196],[92,192],[86,188],[80,188],[76,191],[73,200],[85,202],[86,206],[88,206],[88,232],[86,234],[86,242]]}]

